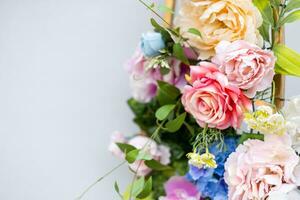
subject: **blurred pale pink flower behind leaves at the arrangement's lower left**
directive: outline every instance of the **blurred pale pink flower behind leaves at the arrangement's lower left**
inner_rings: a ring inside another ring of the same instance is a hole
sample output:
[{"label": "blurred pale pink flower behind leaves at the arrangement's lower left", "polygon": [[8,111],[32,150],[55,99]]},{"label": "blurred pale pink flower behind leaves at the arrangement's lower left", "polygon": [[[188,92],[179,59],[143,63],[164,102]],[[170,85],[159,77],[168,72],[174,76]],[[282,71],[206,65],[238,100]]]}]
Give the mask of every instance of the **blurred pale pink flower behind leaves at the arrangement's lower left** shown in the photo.
[{"label": "blurred pale pink flower behind leaves at the arrangement's lower left", "polygon": [[[120,134],[119,132],[116,132],[112,136],[111,144],[109,146],[109,150],[117,157],[124,159],[125,155],[118,146],[115,143],[126,143],[130,144],[137,149],[142,149],[145,145],[144,151],[149,154],[152,159],[159,161],[163,165],[168,165],[171,161],[171,153],[170,149],[167,146],[164,145],[158,145],[154,140],[151,138],[148,138],[146,136],[135,136],[131,139],[125,139],[125,137]],[[148,168],[144,161],[136,161],[133,164],[130,164],[130,168],[133,171],[137,171],[138,176],[146,176],[148,175],[152,170]]]}]

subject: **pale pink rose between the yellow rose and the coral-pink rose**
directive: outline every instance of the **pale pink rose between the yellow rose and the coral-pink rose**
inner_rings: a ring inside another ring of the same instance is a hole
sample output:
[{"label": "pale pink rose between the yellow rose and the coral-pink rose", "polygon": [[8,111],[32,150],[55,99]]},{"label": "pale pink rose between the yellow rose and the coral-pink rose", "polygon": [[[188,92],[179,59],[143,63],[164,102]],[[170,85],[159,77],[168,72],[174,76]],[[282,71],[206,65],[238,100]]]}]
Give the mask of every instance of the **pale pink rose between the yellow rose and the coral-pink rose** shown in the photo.
[{"label": "pale pink rose between the yellow rose and the coral-pink rose", "polygon": [[212,58],[212,62],[219,65],[221,72],[227,76],[229,84],[244,90],[250,98],[271,86],[275,61],[272,51],[244,40],[220,42]]}]

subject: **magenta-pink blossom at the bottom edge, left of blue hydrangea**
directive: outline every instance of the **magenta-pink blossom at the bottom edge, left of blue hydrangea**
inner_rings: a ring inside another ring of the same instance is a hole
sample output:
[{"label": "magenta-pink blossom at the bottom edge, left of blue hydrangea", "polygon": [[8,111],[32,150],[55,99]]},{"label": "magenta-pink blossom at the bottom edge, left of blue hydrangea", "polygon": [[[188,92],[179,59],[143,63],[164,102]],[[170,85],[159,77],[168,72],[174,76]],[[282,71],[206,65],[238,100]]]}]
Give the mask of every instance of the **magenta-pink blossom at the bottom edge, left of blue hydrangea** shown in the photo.
[{"label": "magenta-pink blossom at the bottom edge, left of blue hydrangea", "polygon": [[165,184],[165,191],[167,196],[160,197],[159,200],[200,200],[196,186],[184,177],[172,177]]}]

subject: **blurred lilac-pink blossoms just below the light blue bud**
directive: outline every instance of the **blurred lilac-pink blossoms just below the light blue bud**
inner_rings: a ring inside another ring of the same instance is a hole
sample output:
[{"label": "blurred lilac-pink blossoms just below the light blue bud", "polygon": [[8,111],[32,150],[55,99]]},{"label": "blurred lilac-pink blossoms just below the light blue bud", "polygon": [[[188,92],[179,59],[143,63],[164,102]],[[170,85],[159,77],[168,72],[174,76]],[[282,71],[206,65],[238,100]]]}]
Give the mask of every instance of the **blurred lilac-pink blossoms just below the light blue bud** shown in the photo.
[{"label": "blurred lilac-pink blossoms just below the light blue bud", "polygon": [[169,59],[170,72],[162,75],[159,66],[147,69],[149,61],[138,48],[133,57],[126,63],[125,68],[130,74],[130,87],[135,100],[148,103],[156,96],[157,81],[165,81],[179,89],[186,84],[184,75],[188,67],[176,59]]}]

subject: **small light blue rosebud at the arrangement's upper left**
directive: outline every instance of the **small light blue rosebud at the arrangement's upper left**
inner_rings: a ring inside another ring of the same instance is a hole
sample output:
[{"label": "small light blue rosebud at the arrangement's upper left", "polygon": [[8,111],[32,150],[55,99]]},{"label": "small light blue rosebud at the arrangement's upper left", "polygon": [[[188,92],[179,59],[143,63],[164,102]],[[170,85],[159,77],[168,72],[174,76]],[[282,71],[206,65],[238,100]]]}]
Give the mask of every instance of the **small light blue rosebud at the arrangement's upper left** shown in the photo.
[{"label": "small light blue rosebud at the arrangement's upper left", "polygon": [[164,48],[165,42],[160,33],[149,32],[142,35],[141,49],[145,56],[157,56],[160,54],[160,50]]}]

